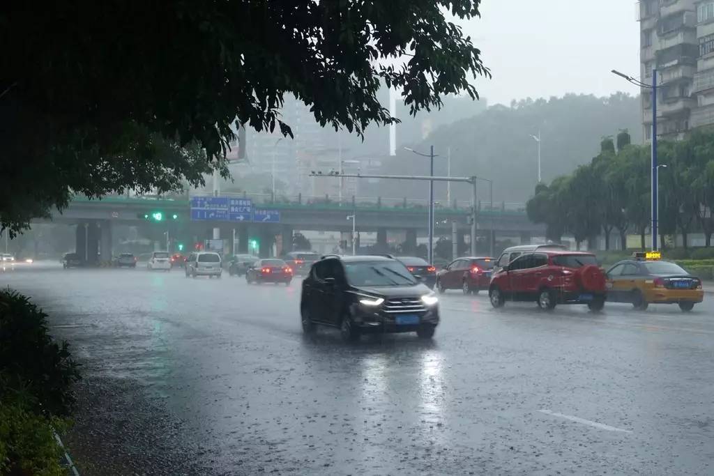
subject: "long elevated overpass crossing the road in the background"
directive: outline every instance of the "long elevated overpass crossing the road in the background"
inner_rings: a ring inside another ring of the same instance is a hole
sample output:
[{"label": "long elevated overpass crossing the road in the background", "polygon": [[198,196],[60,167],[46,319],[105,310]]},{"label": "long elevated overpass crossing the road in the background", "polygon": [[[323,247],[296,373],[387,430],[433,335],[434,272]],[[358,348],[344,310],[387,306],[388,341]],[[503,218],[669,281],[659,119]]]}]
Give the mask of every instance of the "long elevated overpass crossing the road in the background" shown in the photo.
[{"label": "long elevated overpass crossing the road in the background", "polygon": [[[321,197],[278,197],[268,194],[241,194],[222,196],[248,198],[255,208],[264,208],[276,212],[278,221],[272,223],[238,223],[218,220],[191,221],[191,206],[188,196],[175,198],[109,196],[101,200],[89,200],[77,196],[62,213],[52,215],[56,223],[77,225],[77,250],[91,248],[88,256],[96,255],[94,249],[101,249],[101,259],[111,257],[111,228],[113,225],[126,224],[137,226],[156,226],[147,223],[145,216],[159,212],[165,221],[173,221],[199,240],[211,238],[210,230],[219,228],[221,236],[236,236],[245,251],[248,237],[271,239],[283,236],[283,243],[290,242],[293,230],[343,231],[352,229],[351,221],[346,217],[356,215],[356,228],[361,232],[377,232],[378,243],[386,245],[387,231],[406,231],[408,241],[416,243],[418,234],[426,235],[428,208],[426,201],[407,200],[406,198],[350,198],[337,201],[326,196]],[[488,236],[493,227],[496,236],[518,236],[521,241],[530,240],[531,236],[543,236],[545,229],[531,223],[522,205],[501,203],[493,209],[479,207],[477,226],[479,235]],[[452,223],[456,223],[460,236],[470,231],[471,203],[436,203],[434,219],[437,235],[450,235]],[[175,217],[175,218],[174,218]],[[88,244],[89,243],[89,244]],[[101,243],[101,246],[99,245]],[[415,244],[416,245],[416,244]],[[78,251],[79,252],[79,251]]]}]

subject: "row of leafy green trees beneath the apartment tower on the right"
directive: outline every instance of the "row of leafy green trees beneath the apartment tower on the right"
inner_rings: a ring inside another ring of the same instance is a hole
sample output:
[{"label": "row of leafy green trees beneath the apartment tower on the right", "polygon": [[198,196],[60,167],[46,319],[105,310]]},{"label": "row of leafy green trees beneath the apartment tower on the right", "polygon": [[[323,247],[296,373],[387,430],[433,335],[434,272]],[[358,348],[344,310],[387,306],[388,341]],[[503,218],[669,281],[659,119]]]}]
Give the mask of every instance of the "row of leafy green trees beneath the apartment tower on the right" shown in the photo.
[{"label": "row of leafy green trees beneath the apartment tower on the right", "polygon": [[[624,249],[626,235],[637,233],[645,248],[650,227],[650,146],[633,146],[625,134],[618,135],[617,151],[611,138],[603,140],[602,151],[590,163],[555,178],[550,186],[535,188],[528,216],[545,224],[548,238],[560,240],[572,233],[580,243],[602,232],[605,248],[610,248],[610,231],[617,231]],[[689,233],[701,231],[710,246],[714,131],[697,130],[682,141],[660,141],[658,158],[667,166],[659,177],[660,234],[679,233],[687,248]]]}]

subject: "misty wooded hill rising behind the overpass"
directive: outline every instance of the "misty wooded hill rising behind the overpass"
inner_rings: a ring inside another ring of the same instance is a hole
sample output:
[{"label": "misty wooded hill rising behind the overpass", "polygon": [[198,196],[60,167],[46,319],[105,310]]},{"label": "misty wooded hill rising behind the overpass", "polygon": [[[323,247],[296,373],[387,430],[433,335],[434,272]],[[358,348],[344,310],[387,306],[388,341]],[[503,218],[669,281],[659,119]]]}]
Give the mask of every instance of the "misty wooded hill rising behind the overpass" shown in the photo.
[{"label": "misty wooded hill rising behind the overpass", "polygon": [[[640,99],[624,93],[607,98],[568,94],[562,98],[526,99],[511,107],[491,106],[461,121],[436,128],[413,148],[428,152],[435,146],[436,175],[446,175],[447,148],[451,147],[451,175],[492,178],[497,201],[526,201],[536,182],[536,143],[531,134],[540,128],[541,170],[544,182],[570,173],[597,155],[603,136],[615,136],[627,128],[633,143],[642,142]],[[384,166],[386,173],[427,174],[428,159],[399,150]],[[423,197],[424,184],[382,181],[383,196]],[[446,197],[446,186],[435,186],[436,197]],[[482,200],[488,198],[483,183]],[[470,198],[466,186],[453,185],[452,197]]]}]

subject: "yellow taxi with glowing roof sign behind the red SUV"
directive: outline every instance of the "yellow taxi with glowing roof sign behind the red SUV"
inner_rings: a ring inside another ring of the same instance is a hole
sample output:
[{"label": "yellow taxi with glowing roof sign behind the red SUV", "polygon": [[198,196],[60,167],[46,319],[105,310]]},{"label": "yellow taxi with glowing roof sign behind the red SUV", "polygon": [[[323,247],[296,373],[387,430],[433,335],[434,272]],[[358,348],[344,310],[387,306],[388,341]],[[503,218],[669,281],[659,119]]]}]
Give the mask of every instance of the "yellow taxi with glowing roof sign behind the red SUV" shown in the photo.
[{"label": "yellow taxi with glowing roof sign behind the red SUV", "polygon": [[702,281],[663,261],[659,251],[634,253],[632,259],[615,263],[606,278],[610,303],[631,303],[639,310],[650,304],[678,304],[688,312],[704,299]]}]

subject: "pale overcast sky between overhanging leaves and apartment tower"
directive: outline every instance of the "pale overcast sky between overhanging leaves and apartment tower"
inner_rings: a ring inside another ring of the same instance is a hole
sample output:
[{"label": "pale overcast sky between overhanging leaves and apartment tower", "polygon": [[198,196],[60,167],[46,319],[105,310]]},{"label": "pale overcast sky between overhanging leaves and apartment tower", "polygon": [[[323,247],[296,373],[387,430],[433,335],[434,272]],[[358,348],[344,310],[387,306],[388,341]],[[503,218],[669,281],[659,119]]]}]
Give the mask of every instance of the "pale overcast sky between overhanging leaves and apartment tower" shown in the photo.
[{"label": "pale overcast sky between overhanging leaves and apartment tower", "polygon": [[477,81],[478,92],[490,104],[638,93],[610,73],[639,74],[635,11],[634,0],[483,0],[481,19],[463,24],[493,74]]}]

